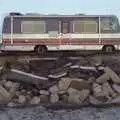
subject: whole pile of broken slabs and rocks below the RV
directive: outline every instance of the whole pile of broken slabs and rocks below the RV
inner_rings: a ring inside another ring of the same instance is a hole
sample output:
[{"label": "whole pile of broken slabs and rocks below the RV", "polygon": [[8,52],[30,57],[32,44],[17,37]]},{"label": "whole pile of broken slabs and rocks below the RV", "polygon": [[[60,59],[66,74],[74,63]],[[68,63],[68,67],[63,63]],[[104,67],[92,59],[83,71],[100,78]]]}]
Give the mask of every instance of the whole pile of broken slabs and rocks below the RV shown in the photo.
[{"label": "whole pile of broken slabs and rocks below the RV", "polygon": [[117,104],[120,74],[116,68],[116,64],[115,68],[90,65],[83,58],[7,64],[1,67],[0,104]]}]

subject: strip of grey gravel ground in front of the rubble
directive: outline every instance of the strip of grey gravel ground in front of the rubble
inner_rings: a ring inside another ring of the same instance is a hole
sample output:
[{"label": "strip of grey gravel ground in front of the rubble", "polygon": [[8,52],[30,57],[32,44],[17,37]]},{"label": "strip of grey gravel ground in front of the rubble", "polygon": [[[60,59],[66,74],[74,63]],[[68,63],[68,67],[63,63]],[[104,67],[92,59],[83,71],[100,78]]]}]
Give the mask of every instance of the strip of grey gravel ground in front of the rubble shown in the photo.
[{"label": "strip of grey gravel ground in front of the rubble", "polygon": [[47,110],[33,108],[0,109],[0,120],[120,120],[120,107]]}]

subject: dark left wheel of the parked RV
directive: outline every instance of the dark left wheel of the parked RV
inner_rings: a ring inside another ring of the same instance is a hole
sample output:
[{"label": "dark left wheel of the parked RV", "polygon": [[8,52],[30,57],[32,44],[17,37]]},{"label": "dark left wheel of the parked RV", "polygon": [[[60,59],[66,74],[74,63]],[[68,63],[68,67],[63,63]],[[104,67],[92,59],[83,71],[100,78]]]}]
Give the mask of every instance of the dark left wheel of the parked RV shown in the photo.
[{"label": "dark left wheel of the parked RV", "polygon": [[45,46],[36,46],[35,52],[38,55],[45,56],[47,54],[47,48]]}]

